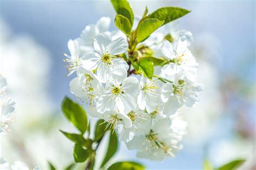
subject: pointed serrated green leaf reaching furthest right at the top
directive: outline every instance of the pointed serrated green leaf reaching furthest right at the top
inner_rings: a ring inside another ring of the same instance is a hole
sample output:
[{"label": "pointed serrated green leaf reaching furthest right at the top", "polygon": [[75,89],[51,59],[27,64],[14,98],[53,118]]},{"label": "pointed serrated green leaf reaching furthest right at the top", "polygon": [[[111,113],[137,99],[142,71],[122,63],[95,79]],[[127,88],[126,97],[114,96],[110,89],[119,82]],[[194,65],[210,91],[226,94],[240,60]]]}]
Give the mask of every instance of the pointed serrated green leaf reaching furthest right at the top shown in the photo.
[{"label": "pointed serrated green leaf reaching furthest right at the top", "polygon": [[[171,21],[185,16],[190,11],[178,8],[178,7],[164,7],[160,8],[149,15],[149,18],[157,18],[164,20],[164,24],[170,23]],[[163,24],[163,25],[164,25]]]}]

